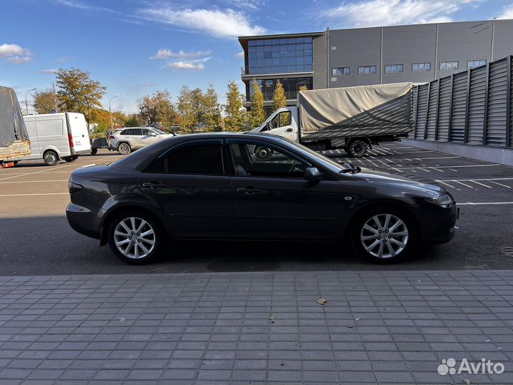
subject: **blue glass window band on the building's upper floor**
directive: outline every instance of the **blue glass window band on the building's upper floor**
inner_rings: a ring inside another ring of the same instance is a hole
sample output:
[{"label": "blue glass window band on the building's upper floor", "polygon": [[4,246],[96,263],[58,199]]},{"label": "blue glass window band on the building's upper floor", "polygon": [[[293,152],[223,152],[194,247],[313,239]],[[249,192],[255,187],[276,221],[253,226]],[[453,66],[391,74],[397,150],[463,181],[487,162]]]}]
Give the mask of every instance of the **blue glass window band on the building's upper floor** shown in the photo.
[{"label": "blue glass window band on the building's upper floor", "polygon": [[244,74],[311,72],[313,52],[311,37],[249,40]]}]

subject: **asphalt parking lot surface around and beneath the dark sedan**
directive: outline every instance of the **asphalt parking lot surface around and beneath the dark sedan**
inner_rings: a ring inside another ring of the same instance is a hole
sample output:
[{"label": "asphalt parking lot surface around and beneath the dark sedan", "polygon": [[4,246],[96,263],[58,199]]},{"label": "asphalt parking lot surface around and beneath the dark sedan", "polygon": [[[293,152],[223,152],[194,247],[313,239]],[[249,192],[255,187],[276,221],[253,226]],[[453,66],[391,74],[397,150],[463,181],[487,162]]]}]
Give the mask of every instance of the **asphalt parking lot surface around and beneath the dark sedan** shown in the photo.
[{"label": "asphalt parking lot surface around and beneath the dark sedan", "polygon": [[457,235],[393,266],[361,261],[350,245],[284,242],[178,242],[152,265],[125,265],[108,247],[71,230],[64,212],[73,170],[121,156],[100,150],[55,167],[29,161],[0,169],[0,275],[513,268],[512,167],[400,143],[375,147],[361,159],[326,155],[445,186],[461,207]]}]

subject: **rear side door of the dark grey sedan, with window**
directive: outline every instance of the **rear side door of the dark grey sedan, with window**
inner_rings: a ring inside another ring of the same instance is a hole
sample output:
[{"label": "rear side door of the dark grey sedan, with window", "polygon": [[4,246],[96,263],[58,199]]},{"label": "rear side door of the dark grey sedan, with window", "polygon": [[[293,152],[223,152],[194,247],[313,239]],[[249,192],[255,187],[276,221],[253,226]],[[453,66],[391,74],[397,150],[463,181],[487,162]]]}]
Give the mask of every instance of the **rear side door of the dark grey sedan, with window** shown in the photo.
[{"label": "rear side door of the dark grey sedan, with window", "polygon": [[142,194],[164,213],[173,236],[218,238],[233,228],[224,163],[221,139],[192,140],[170,148],[141,174]]}]

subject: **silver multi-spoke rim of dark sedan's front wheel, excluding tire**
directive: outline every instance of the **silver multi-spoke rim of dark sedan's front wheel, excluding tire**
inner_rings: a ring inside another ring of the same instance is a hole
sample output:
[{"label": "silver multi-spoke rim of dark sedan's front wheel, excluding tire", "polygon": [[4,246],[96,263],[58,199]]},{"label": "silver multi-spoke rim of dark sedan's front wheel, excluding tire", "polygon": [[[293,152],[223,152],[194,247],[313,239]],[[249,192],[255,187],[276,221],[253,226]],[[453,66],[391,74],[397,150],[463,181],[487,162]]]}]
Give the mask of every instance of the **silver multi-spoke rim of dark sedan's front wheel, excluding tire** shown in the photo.
[{"label": "silver multi-spoke rim of dark sedan's front wheel, excluding tire", "polygon": [[360,232],[363,248],[376,258],[392,258],[408,245],[408,227],[392,214],[374,215]]}]

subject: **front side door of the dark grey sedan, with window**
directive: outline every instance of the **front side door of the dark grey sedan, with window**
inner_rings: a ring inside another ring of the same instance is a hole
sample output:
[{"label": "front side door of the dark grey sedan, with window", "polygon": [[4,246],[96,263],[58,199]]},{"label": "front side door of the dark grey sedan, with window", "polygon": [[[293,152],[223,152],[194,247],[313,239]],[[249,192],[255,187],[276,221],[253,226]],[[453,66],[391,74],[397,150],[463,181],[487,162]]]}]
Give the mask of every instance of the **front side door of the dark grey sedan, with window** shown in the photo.
[{"label": "front side door of the dark grey sedan, with window", "polygon": [[[227,140],[233,162],[235,226],[247,238],[328,240],[338,236],[338,180],[306,180],[309,162],[259,140]],[[271,148],[266,160],[251,152]],[[321,170],[322,173],[322,170]]]}]

